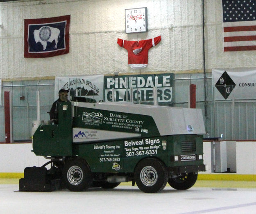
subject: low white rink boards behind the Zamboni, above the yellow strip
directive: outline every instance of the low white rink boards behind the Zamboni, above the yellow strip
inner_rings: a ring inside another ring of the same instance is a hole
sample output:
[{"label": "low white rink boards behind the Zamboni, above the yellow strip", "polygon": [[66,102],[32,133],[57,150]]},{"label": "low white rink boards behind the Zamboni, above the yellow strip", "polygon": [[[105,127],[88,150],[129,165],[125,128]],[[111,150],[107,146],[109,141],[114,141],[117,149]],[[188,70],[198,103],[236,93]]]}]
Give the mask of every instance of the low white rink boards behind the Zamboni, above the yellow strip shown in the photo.
[{"label": "low white rink boards behind the Zamboni, above the yellow strip", "polygon": [[[231,168],[231,172],[256,174],[256,141],[220,142],[227,143],[226,162],[228,163],[227,167]],[[23,172],[25,167],[40,167],[49,161],[42,156],[36,156],[31,150],[31,143],[0,144],[0,173]],[[212,173],[212,153],[211,142],[204,141],[204,164],[208,165],[208,170],[200,172],[200,174],[214,174]],[[234,161],[236,164],[230,163],[230,161]],[[49,167],[50,165],[48,165]]]}]

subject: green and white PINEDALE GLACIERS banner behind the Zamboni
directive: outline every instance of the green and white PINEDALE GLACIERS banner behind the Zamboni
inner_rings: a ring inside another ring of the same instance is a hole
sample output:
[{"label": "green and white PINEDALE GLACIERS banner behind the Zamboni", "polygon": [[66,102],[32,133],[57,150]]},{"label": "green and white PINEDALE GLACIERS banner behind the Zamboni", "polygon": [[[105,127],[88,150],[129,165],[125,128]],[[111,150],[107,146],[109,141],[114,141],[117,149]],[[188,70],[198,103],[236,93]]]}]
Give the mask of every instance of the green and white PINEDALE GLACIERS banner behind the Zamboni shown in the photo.
[{"label": "green and white PINEDALE GLACIERS banner behind the Zamboni", "polygon": [[[153,103],[153,87],[157,87],[159,104],[172,102],[173,74],[152,74],[133,76],[104,76],[105,101],[130,101]],[[127,99],[128,98],[128,99]]]}]

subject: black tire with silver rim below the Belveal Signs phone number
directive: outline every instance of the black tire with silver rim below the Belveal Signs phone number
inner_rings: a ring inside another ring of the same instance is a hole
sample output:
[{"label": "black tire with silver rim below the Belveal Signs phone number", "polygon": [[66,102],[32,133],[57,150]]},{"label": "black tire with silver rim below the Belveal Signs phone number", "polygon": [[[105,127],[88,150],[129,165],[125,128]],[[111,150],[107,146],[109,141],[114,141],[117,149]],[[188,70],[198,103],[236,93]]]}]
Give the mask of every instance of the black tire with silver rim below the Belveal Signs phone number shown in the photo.
[{"label": "black tire with silver rim below the Belveal Signs phone number", "polygon": [[166,186],[168,173],[161,161],[155,158],[146,158],[136,166],[134,178],[141,191],[156,193]]}]

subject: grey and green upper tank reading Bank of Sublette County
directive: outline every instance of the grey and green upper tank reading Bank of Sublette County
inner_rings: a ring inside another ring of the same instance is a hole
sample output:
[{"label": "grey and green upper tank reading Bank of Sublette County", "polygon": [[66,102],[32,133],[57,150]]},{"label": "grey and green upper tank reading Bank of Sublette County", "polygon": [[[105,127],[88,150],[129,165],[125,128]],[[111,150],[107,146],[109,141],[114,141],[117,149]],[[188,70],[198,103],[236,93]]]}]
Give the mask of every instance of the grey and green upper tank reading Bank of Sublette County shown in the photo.
[{"label": "grey and green upper tank reading Bank of Sublette County", "polygon": [[72,102],[73,142],[204,134],[201,109],[129,102]]}]

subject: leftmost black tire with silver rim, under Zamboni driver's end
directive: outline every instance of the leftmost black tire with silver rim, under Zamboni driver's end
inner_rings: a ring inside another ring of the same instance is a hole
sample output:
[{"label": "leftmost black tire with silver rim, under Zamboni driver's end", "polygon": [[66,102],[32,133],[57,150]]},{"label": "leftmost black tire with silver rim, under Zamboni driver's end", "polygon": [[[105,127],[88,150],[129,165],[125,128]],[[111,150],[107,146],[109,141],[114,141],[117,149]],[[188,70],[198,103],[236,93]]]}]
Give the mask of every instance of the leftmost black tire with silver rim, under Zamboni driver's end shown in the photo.
[{"label": "leftmost black tire with silver rim, under Zamboni driver's end", "polygon": [[85,161],[80,159],[66,161],[62,180],[70,191],[79,192],[86,190],[91,182],[91,170]]}]

